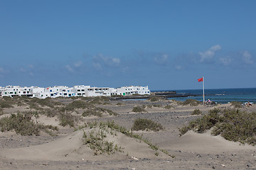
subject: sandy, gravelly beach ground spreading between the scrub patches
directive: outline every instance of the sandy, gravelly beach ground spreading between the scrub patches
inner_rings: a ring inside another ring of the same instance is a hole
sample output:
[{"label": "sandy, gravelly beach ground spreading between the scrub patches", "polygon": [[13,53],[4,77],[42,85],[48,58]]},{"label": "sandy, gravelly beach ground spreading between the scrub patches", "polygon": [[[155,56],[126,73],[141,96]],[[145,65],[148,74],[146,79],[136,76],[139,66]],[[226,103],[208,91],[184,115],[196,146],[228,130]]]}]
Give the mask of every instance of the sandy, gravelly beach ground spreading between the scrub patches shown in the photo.
[{"label": "sandy, gravelly beach ground spreading between the scrub patches", "polygon": [[[65,105],[73,100],[53,99]],[[191,115],[195,109],[206,114],[213,108],[233,108],[230,103],[215,106],[202,104],[182,106],[172,100],[118,100],[97,103],[96,106],[106,111],[113,111],[117,115],[103,113],[101,117],[82,116],[85,110],[78,108],[72,112],[77,118],[76,128],[68,125],[61,126],[56,116],[39,115],[33,118],[38,123],[57,126],[56,135],[41,132],[39,136],[22,136],[16,135],[13,131],[0,132],[1,169],[256,169],[256,148],[252,145],[231,142],[219,135],[213,136],[210,130],[205,133],[188,131],[185,135],[179,135],[178,128],[201,117],[201,115]],[[134,106],[144,107],[145,111],[133,112]],[[165,108],[165,106],[171,107]],[[0,118],[17,111],[28,110],[34,111],[26,105],[4,108],[4,114]],[[240,110],[255,112],[256,105],[242,106]],[[90,128],[78,128],[89,122],[114,121],[115,124],[129,130],[137,118],[153,120],[164,127],[164,130],[156,132],[152,130],[134,131],[134,134],[156,145],[159,148],[157,152],[142,140],[114,131],[116,135],[107,134],[106,138],[120,146],[122,152],[95,155],[95,152],[82,140],[84,132],[88,134]]]}]

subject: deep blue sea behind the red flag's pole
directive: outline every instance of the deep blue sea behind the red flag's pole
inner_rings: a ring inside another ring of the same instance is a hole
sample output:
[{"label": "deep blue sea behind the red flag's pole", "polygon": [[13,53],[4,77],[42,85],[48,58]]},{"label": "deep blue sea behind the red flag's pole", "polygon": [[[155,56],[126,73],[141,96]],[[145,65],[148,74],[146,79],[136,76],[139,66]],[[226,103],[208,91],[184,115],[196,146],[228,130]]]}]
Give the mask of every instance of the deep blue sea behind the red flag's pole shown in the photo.
[{"label": "deep blue sea behind the red flag's pole", "polygon": [[[188,98],[193,98],[198,101],[203,101],[203,89],[201,90],[176,90],[177,94],[198,94],[201,96],[188,96],[181,98],[169,98],[177,101],[186,101]],[[256,103],[256,88],[241,88],[241,89],[205,89],[206,100],[215,101],[217,103],[229,103],[230,101],[240,101],[245,103],[250,101]]]}]

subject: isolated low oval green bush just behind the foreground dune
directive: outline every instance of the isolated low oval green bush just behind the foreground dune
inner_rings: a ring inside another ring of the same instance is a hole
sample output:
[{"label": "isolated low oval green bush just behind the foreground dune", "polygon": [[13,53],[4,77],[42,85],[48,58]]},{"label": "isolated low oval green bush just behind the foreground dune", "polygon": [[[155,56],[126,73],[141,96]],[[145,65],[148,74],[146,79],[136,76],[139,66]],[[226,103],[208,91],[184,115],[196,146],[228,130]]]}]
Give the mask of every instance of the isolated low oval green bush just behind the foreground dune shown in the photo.
[{"label": "isolated low oval green bush just behind the foreground dune", "polygon": [[156,132],[163,129],[160,123],[155,123],[153,120],[144,118],[137,118],[134,120],[134,125],[132,125],[132,130],[153,130]]}]

